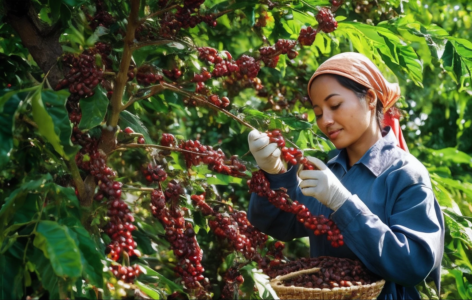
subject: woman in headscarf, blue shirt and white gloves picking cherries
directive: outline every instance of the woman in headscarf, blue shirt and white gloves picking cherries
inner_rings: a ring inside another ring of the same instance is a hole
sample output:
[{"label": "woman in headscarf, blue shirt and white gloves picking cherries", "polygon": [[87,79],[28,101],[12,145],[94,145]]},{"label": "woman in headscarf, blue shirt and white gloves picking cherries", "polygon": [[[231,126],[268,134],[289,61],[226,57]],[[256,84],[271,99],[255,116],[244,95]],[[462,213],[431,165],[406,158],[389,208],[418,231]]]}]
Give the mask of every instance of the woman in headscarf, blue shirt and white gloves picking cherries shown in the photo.
[{"label": "woman in headscarf, blue shirt and white gloves picking cherries", "polygon": [[[341,53],[326,60],[308,84],[316,123],[340,150],[327,165],[307,157],[320,171],[285,171],[280,150],[264,133],[249,134],[249,148],[271,189],[329,215],[344,236],[333,248],[295,214],[252,194],[248,218],[280,240],[309,236],[312,257],[360,259],[386,280],[378,299],[420,299],[415,285],[432,278],[439,290],[444,220],[426,168],[407,152],[398,120],[382,116],[400,97],[364,55]],[[402,148],[400,148],[400,146]],[[406,151],[405,151],[406,150]],[[298,176],[297,176],[298,175]]]}]

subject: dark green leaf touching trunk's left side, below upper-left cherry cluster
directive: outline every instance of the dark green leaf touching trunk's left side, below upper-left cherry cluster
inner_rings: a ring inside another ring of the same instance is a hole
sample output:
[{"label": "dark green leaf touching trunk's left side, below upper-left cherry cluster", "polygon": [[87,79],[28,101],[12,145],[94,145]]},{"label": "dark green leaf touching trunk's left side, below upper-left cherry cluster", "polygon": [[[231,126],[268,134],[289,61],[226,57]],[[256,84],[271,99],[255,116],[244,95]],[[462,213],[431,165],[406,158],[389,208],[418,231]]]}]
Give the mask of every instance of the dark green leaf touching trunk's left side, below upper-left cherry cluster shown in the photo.
[{"label": "dark green leaf touching trunk's left side, below upper-left cherry cluster", "polygon": [[89,130],[101,124],[107,113],[108,104],[107,91],[98,85],[92,97],[80,99],[80,109],[82,119],[80,119],[79,129]]}]

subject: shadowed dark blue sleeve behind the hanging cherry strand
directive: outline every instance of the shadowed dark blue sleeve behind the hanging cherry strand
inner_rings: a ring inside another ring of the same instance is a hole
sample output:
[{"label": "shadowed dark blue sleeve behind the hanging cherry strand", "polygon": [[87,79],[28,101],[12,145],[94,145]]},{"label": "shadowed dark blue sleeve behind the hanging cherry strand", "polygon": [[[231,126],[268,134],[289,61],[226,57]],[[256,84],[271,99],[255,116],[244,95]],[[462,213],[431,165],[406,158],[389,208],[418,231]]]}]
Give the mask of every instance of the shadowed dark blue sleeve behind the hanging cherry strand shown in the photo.
[{"label": "shadowed dark blue sleeve behind the hanging cherry strand", "polygon": [[[296,170],[297,166],[292,166],[285,173],[265,175],[269,180],[270,189],[286,188],[292,200],[297,200],[310,209],[316,200],[306,197],[298,189]],[[260,197],[256,193],[251,195],[247,217],[256,228],[278,240],[288,241],[308,236],[305,226],[296,220],[295,214],[278,209],[267,197]]]}]

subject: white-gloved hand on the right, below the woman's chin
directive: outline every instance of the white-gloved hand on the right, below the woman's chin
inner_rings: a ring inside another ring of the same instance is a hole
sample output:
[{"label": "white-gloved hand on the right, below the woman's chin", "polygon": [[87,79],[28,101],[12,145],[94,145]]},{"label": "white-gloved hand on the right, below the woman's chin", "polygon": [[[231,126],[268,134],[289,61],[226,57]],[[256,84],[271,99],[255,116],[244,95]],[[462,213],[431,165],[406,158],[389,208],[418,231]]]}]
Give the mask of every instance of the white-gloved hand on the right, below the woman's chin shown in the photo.
[{"label": "white-gloved hand on the right, below the woman's chin", "polygon": [[319,170],[299,172],[298,177],[302,179],[299,187],[303,195],[315,197],[323,205],[336,211],[348,197],[352,196],[351,192],[322,161],[312,156],[306,156],[306,158]]}]

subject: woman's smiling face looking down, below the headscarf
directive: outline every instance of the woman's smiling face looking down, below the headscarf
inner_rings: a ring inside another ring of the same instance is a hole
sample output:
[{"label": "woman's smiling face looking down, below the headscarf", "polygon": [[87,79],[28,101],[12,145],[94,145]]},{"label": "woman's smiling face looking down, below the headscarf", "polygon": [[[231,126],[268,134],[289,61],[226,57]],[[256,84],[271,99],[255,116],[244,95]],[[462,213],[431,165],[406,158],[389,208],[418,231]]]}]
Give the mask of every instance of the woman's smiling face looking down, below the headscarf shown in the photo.
[{"label": "woman's smiling face looking down, below the headscarf", "polygon": [[370,143],[372,108],[354,92],[342,86],[335,77],[323,74],[316,77],[310,87],[316,124],[337,149],[353,144]]}]

